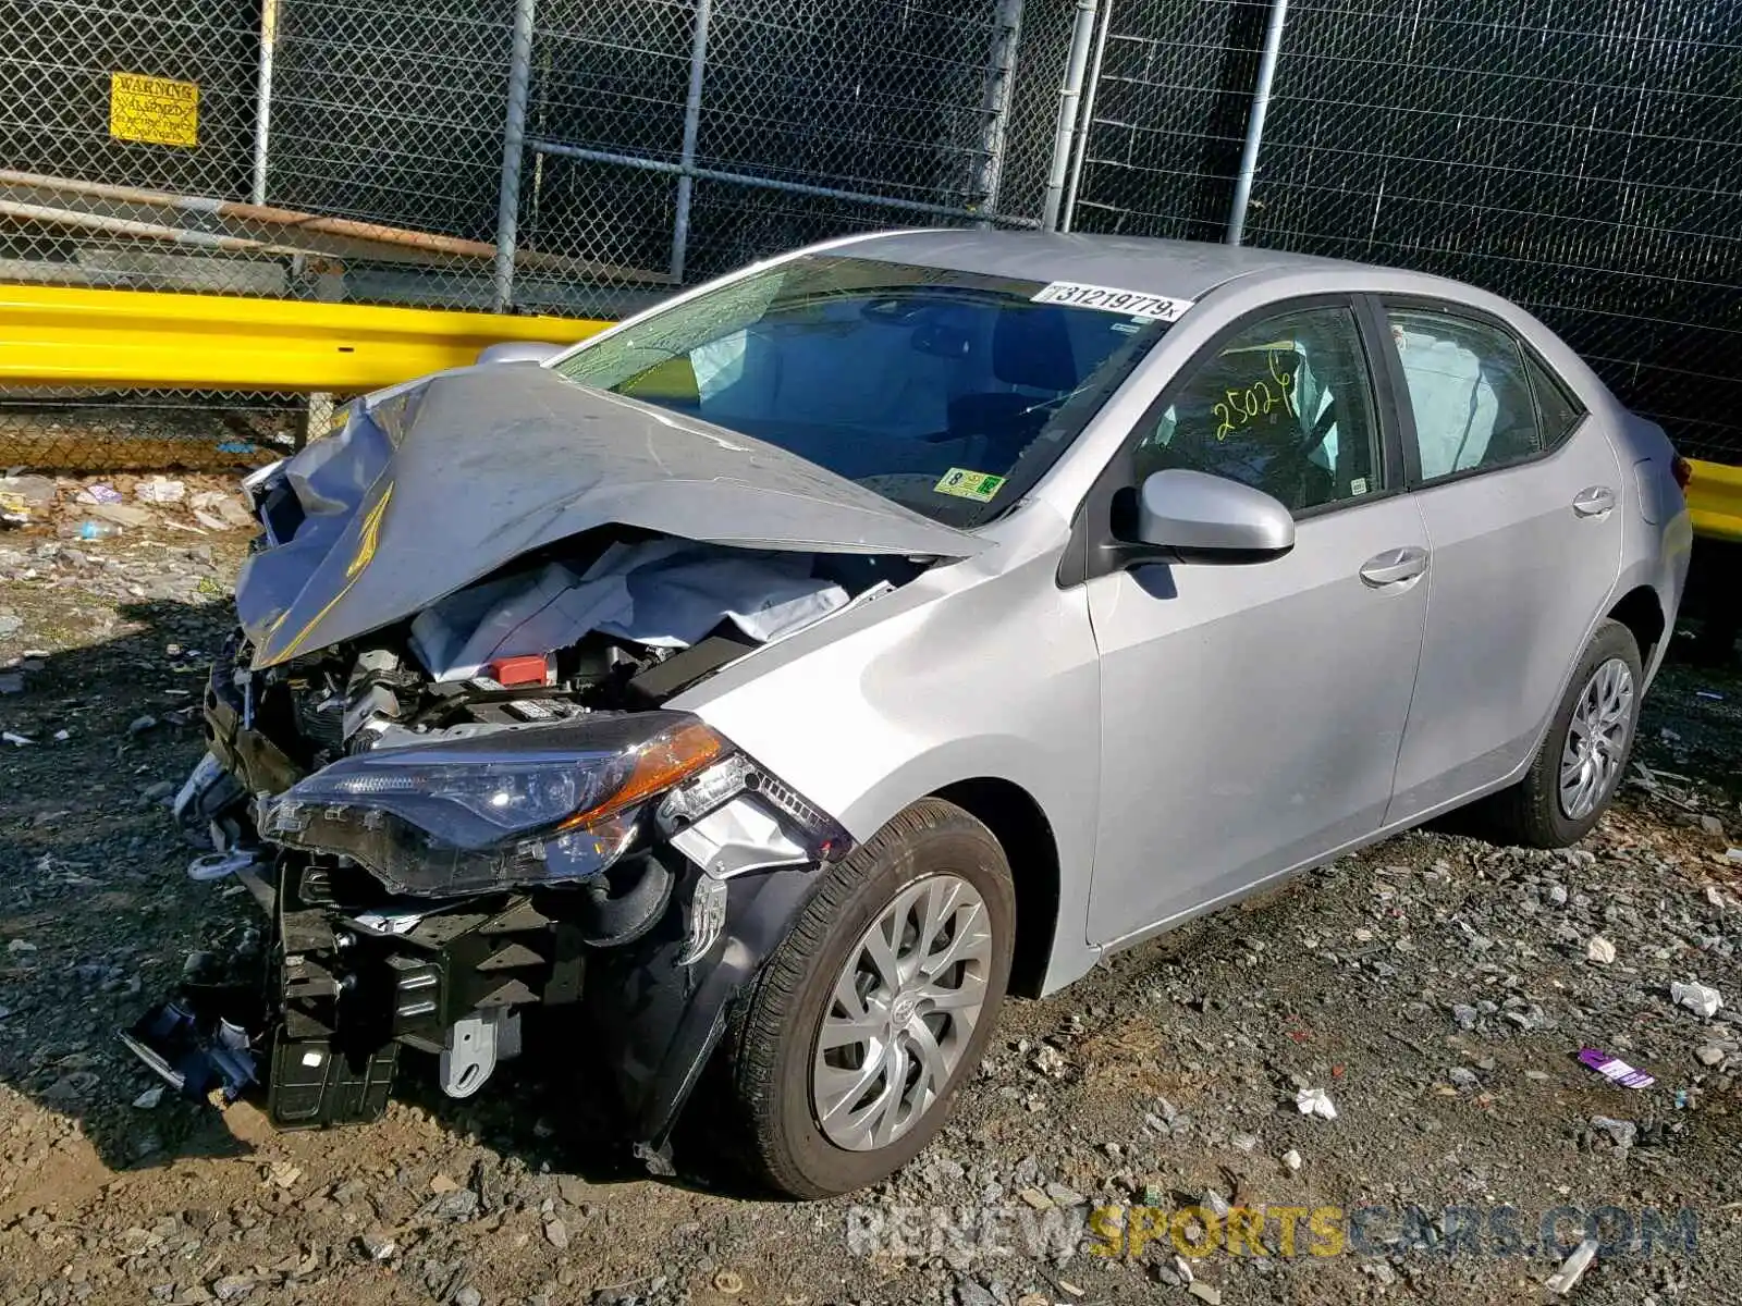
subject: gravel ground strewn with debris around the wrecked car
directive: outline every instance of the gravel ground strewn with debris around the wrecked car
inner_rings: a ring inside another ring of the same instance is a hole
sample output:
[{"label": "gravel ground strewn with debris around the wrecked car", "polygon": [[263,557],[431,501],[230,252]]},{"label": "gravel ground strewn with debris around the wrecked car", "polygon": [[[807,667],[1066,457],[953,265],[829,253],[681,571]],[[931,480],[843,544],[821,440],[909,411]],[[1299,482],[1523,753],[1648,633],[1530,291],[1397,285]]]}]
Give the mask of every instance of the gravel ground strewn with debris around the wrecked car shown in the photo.
[{"label": "gravel ground strewn with debris around the wrecked car", "polygon": [[[1571,1301],[1742,1299],[1735,674],[1665,672],[1648,770],[1582,846],[1402,836],[1012,1003],[908,1172],[798,1205],[695,1149],[685,1179],[645,1177],[568,1040],[470,1102],[408,1055],[387,1118],[333,1134],[155,1092],[113,1029],[251,925],[239,888],[183,876],[165,811],[242,542],[162,515],[0,535],[5,1306],[1543,1301],[1601,1207]],[[1688,980],[1728,1005],[1678,1006]],[[1266,1207],[1261,1236],[1232,1249],[1223,1203]],[[1540,1245],[1559,1207],[1566,1245]],[[1672,1242],[1643,1254],[1658,1215]],[[1143,1245],[1169,1219],[1214,1250]]]}]

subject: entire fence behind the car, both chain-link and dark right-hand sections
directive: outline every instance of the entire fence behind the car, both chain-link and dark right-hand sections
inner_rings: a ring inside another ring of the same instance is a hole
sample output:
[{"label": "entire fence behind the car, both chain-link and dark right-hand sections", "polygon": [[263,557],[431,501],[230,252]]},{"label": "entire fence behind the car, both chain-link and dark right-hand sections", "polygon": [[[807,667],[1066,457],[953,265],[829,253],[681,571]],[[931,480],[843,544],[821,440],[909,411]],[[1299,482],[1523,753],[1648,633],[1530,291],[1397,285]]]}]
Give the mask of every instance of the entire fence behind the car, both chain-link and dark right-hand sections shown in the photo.
[{"label": "entire fence behind the car, both chain-link and dark right-hand sections", "polygon": [[[0,0],[0,280],[617,317],[845,232],[1033,226],[1061,165],[1070,228],[1219,240],[1270,12]],[[1709,0],[1293,0],[1246,239],[1507,294],[1742,460],[1739,57]],[[129,423],[265,456],[301,402],[0,394],[0,463],[160,460]]]}]

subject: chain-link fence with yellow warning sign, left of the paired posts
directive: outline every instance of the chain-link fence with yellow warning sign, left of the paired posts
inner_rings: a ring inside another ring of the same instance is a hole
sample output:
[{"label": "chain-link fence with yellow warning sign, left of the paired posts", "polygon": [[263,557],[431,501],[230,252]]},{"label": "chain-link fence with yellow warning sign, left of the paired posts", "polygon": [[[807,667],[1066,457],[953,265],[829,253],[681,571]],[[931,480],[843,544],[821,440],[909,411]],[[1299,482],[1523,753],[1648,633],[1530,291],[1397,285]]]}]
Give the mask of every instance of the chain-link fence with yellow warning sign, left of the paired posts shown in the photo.
[{"label": "chain-link fence with yellow warning sign, left of the paired posts", "polygon": [[[998,195],[1021,9],[0,0],[0,280],[618,317],[827,235],[1033,225]],[[0,463],[155,461],[113,435],[174,411],[197,460],[300,404],[12,390]]]}]

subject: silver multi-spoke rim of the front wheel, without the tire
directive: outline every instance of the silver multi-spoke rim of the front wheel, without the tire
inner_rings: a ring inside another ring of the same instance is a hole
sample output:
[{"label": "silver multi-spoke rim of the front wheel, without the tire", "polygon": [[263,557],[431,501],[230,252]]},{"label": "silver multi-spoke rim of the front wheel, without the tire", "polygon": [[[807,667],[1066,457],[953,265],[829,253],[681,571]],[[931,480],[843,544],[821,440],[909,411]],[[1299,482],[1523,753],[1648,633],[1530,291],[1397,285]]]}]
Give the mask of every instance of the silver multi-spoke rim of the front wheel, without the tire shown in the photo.
[{"label": "silver multi-spoke rim of the front wheel, without the tire", "polygon": [[986,1008],[991,921],[967,879],[904,886],[859,937],[817,1026],[810,1104],[848,1151],[895,1142],[942,1097]]}]

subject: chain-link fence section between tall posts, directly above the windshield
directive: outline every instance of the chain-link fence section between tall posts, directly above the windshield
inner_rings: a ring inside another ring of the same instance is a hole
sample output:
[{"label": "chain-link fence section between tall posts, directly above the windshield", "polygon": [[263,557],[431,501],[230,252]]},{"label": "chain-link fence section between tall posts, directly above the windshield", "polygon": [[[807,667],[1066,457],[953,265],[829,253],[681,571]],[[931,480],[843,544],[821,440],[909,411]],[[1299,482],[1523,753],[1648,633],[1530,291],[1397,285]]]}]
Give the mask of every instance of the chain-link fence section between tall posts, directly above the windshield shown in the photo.
[{"label": "chain-link fence section between tall posts, directly above the windshield", "polygon": [[[993,218],[1017,10],[540,0],[514,301],[611,313],[827,235]],[[571,303],[577,263],[620,289]]]}]

